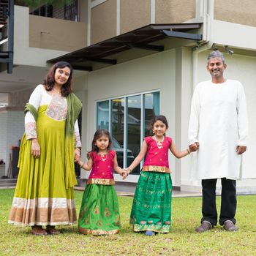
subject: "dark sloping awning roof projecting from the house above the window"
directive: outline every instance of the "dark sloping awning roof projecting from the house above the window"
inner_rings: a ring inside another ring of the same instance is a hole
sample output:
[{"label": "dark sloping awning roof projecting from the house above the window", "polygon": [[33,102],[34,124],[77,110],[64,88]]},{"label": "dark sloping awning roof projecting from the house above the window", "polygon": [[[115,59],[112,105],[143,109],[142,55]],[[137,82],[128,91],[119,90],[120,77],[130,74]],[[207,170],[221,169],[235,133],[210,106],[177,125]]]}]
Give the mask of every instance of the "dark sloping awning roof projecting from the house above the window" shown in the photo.
[{"label": "dark sloping awning roof projecting from the house above the window", "polygon": [[67,61],[72,64],[74,69],[91,71],[93,69],[92,62],[107,65],[117,64],[117,60],[110,58],[110,56],[131,48],[151,51],[165,50],[163,45],[157,45],[154,42],[166,37],[200,41],[202,35],[195,34],[195,31],[198,31],[201,25],[202,23],[149,24],[140,29],[135,29],[55,59],[50,59],[48,62]]}]

